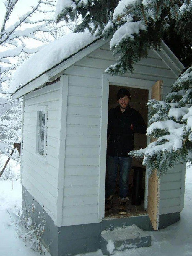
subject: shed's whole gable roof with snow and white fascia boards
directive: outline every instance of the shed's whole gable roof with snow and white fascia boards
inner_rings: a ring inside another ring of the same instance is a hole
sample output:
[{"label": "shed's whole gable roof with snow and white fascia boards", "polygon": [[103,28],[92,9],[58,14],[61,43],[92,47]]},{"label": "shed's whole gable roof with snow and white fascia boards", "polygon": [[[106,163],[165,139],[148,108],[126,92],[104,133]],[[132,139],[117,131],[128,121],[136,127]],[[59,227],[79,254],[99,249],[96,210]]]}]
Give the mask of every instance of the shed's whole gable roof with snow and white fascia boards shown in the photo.
[{"label": "shed's whole gable roof with snow and white fascia boards", "polygon": [[[15,91],[12,94],[13,98],[19,98],[42,87],[47,82],[52,82],[63,74],[64,69],[101,47],[107,41],[84,32],[70,33],[50,43],[27,59],[15,72],[15,80],[12,82]],[[166,63],[168,62],[170,69],[178,76],[184,66],[163,41],[158,54]],[[30,70],[30,73],[27,70]]]}]

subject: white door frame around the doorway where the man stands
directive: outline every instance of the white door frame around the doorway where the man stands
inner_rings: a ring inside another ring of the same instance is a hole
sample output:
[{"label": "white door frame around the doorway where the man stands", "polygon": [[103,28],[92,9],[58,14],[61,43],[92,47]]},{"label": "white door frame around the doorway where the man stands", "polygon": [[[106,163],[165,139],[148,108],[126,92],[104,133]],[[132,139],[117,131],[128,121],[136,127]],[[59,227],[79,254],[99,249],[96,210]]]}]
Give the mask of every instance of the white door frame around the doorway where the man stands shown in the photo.
[{"label": "white door frame around the doorway where the man stands", "polygon": [[[98,219],[105,217],[105,172],[106,172],[106,148],[107,148],[107,122],[108,122],[108,97],[109,85],[125,86],[131,88],[141,88],[149,90],[148,99],[151,99],[151,88],[156,81],[143,80],[138,78],[102,75],[102,99],[101,99],[101,136],[100,136],[100,163],[99,163],[99,183],[98,183]],[[149,120],[148,120],[149,121]],[[147,136],[147,145],[150,140]],[[146,167],[145,175],[145,199],[144,209],[147,210],[148,194],[148,172]]]}]

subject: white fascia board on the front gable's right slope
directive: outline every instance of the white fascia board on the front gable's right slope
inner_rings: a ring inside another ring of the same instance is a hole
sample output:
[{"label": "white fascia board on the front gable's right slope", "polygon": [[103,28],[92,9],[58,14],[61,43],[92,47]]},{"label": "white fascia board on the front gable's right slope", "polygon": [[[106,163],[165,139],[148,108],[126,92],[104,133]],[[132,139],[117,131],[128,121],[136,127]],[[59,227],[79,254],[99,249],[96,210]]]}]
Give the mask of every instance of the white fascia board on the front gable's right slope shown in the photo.
[{"label": "white fascia board on the front gable's right slope", "polygon": [[180,72],[185,68],[185,66],[163,42],[163,40],[161,40],[160,51],[156,51],[156,53],[160,56],[160,58],[162,58],[163,61],[165,61],[176,77],[178,77]]}]

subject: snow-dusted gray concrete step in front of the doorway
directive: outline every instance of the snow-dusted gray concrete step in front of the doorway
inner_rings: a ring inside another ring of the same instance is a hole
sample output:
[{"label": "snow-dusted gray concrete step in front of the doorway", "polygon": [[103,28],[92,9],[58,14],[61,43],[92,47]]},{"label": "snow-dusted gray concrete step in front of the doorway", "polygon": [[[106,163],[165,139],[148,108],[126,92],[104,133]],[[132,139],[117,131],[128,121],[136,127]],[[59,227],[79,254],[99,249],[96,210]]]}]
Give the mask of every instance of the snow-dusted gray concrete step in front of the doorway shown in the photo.
[{"label": "snow-dusted gray concrete step in front of the doorway", "polygon": [[139,247],[151,246],[151,237],[137,226],[104,230],[100,235],[101,250],[104,255]]}]

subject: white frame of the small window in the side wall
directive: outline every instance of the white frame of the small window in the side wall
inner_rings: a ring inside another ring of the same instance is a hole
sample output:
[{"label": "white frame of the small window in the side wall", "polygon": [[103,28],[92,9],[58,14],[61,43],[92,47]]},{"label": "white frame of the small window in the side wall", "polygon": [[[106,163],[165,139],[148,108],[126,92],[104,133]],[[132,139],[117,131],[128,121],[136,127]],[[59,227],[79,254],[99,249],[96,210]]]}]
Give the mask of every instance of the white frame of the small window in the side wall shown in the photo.
[{"label": "white frame of the small window in the side wall", "polygon": [[[35,153],[38,158],[46,161],[46,145],[47,145],[47,118],[48,118],[48,106],[37,106],[37,115],[36,115],[36,145],[35,145]],[[39,113],[40,111],[45,112],[45,131],[44,131],[44,152],[41,155],[38,152],[39,145]]]}]

